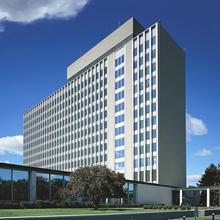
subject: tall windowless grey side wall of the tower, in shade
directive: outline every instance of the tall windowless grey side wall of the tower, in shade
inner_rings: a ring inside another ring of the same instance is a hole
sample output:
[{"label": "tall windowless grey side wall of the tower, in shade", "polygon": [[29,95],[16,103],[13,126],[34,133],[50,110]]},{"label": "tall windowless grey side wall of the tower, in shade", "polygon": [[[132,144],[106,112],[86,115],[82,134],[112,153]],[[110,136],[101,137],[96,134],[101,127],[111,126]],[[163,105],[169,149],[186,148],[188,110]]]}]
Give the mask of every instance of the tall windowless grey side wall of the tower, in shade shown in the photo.
[{"label": "tall windowless grey side wall of the tower, in shade", "polygon": [[186,185],[185,54],[159,26],[159,183]]}]

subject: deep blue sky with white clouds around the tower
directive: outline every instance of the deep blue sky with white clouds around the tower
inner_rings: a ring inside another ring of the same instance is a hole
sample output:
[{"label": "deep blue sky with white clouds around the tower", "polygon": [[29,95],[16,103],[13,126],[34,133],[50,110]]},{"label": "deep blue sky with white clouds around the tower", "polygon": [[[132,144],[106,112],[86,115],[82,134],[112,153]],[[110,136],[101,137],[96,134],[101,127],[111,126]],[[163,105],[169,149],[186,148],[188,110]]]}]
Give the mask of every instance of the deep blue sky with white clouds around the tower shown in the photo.
[{"label": "deep blue sky with white clouds around the tower", "polygon": [[[0,1],[0,161],[22,163],[24,111],[66,83],[66,67],[134,16],[160,20],[186,51],[187,175],[220,163],[218,0]],[[29,2],[29,4],[28,4]]]}]

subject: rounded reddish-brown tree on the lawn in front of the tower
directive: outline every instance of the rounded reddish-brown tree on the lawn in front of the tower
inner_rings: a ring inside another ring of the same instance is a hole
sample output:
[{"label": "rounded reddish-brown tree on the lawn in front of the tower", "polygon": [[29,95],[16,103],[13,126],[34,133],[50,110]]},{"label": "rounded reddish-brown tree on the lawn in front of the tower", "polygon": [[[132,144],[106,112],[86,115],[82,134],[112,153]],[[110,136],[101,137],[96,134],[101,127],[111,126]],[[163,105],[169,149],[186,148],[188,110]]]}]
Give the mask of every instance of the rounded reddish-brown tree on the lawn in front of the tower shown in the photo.
[{"label": "rounded reddish-brown tree on the lawn in front of the tower", "polygon": [[66,186],[68,195],[86,197],[98,208],[101,199],[125,196],[124,176],[106,166],[82,167],[71,174]]}]

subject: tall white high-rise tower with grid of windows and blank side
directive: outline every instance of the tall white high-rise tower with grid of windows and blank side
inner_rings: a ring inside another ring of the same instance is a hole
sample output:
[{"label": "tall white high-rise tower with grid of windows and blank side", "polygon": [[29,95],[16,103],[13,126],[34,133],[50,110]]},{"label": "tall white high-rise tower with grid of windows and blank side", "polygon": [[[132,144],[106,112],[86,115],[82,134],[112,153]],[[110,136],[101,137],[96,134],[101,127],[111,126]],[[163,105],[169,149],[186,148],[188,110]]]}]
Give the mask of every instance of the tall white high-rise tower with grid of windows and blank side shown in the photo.
[{"label": "tall white high-rise tower with grid of windows and blank side", "polygon": [[24,114],[24,164],[106,165],[185,186],[185,56],[160,23],[134,18],[67,68],[67,84]]}]

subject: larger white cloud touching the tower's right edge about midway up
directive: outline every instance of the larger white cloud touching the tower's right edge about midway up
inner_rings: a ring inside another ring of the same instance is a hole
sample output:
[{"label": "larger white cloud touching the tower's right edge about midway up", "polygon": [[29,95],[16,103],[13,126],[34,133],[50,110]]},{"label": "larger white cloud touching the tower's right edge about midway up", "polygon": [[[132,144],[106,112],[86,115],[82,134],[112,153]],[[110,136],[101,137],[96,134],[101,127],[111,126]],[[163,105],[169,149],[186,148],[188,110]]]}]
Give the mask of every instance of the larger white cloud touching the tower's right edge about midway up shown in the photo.
[{"label": "larger white cloud touching the tower's right edge about midway up", "polygon": [[205,123],[196,117],[186,113],[186,139],[190,141],[192,136],[202,136],[208,133]]}]

